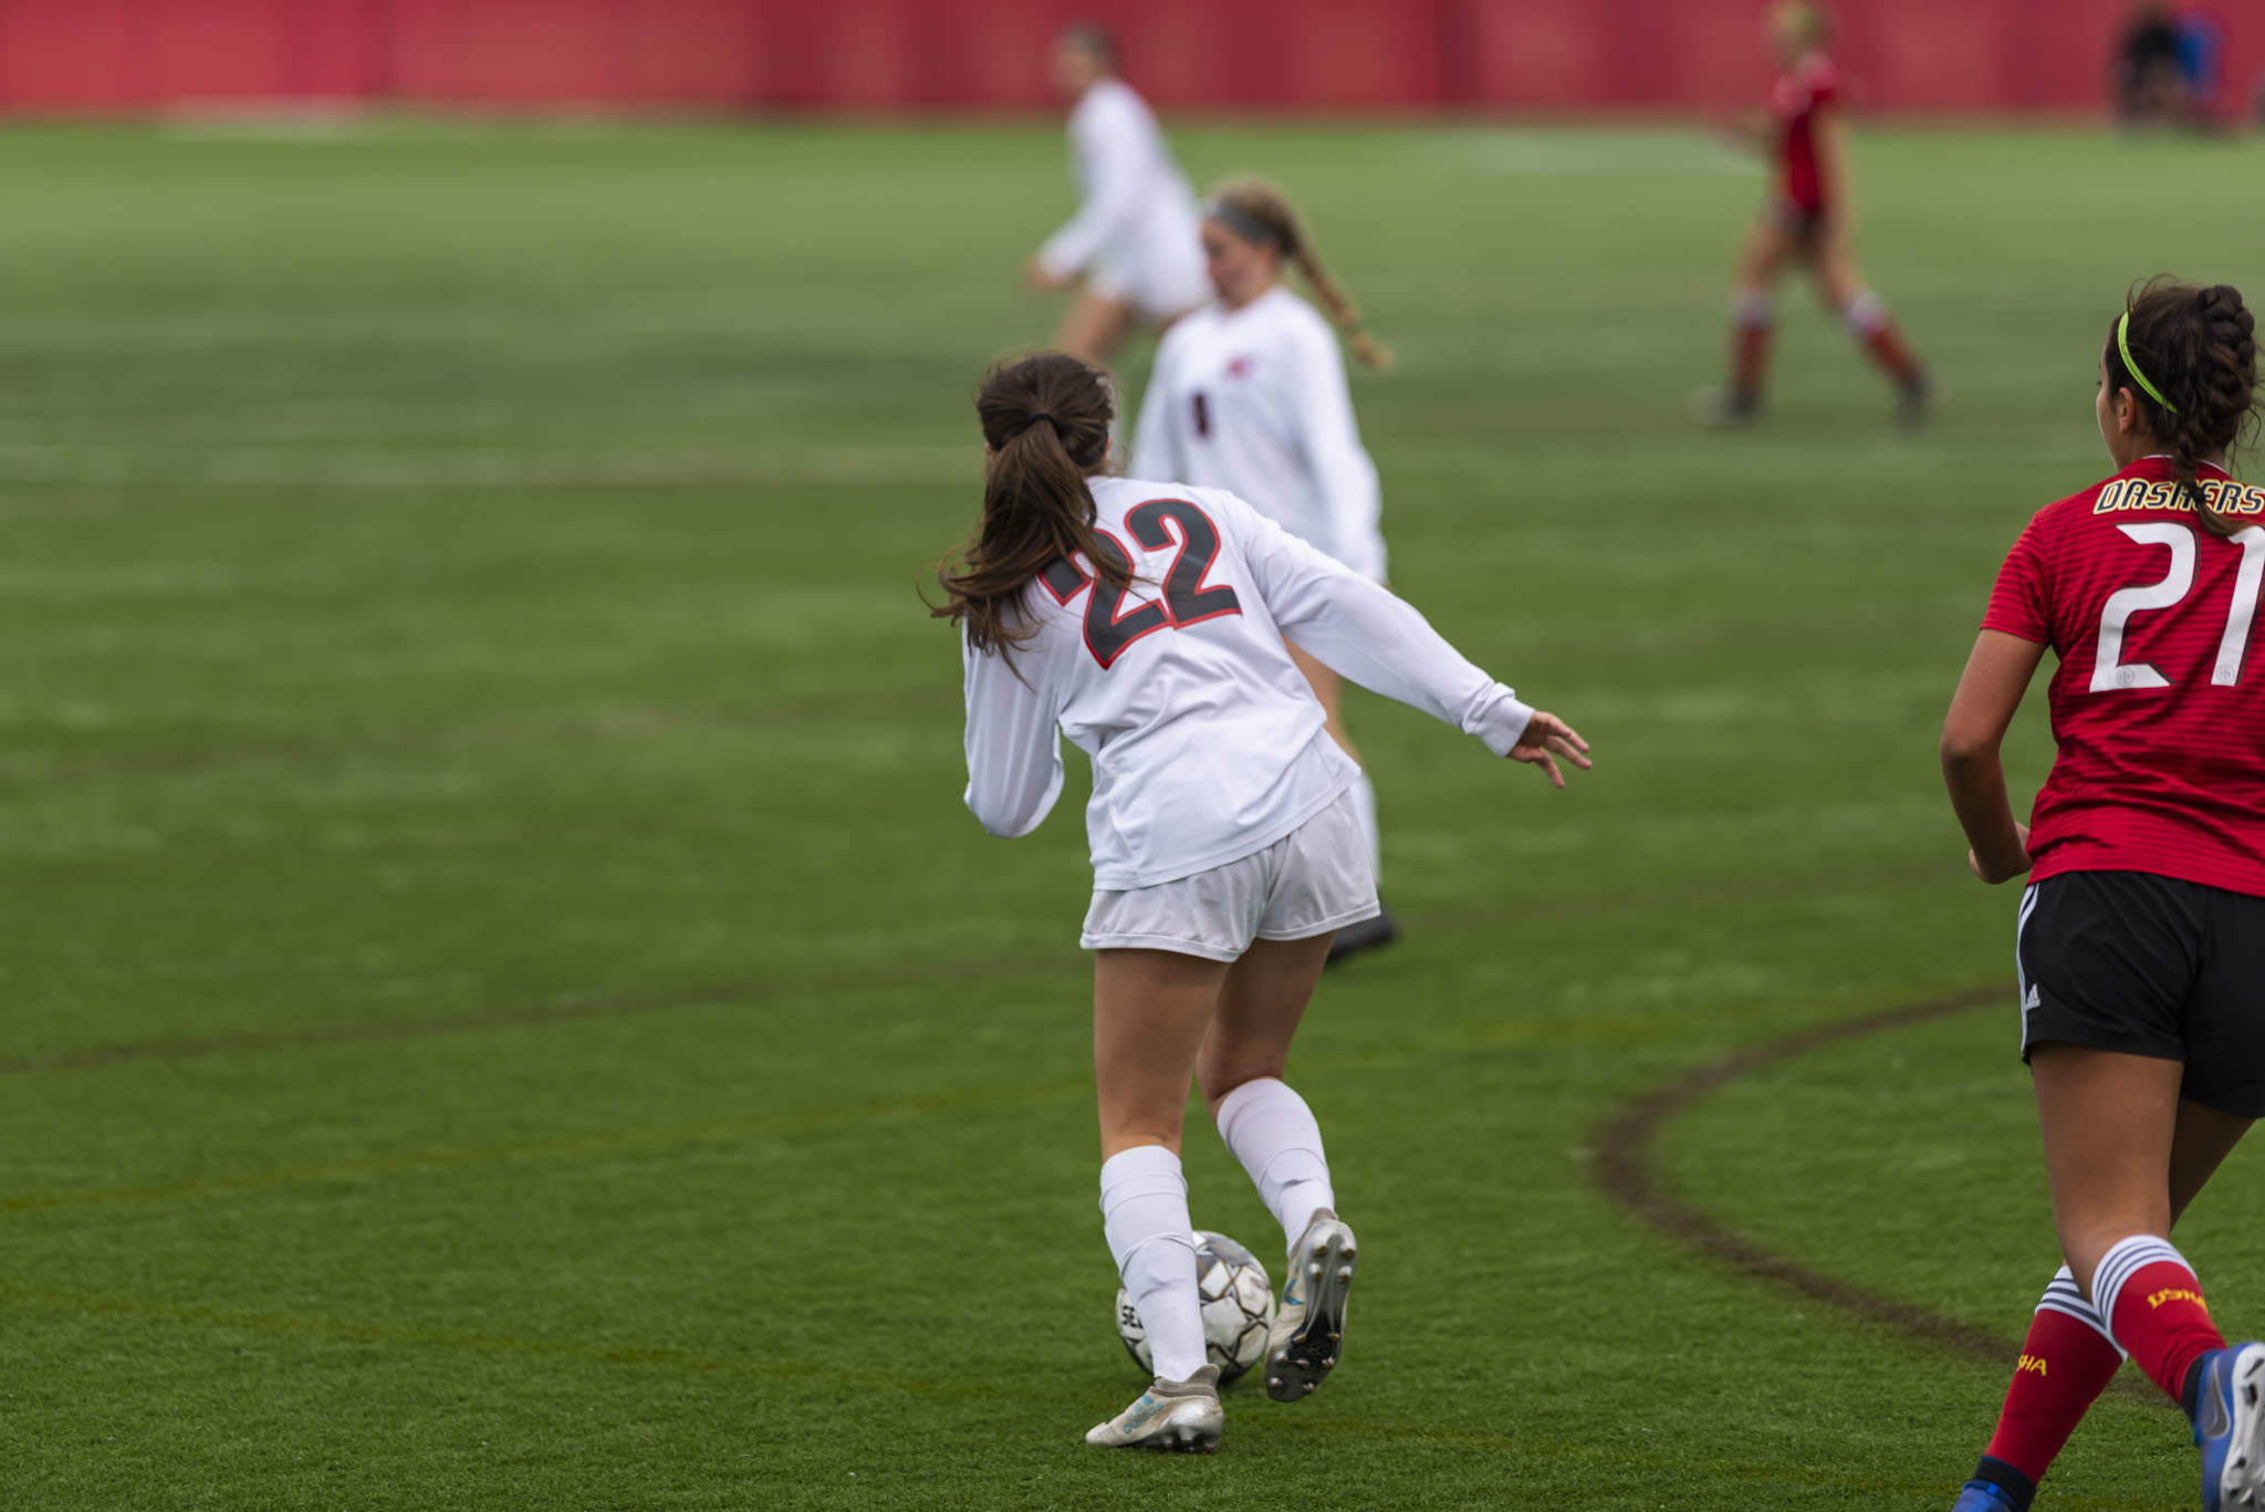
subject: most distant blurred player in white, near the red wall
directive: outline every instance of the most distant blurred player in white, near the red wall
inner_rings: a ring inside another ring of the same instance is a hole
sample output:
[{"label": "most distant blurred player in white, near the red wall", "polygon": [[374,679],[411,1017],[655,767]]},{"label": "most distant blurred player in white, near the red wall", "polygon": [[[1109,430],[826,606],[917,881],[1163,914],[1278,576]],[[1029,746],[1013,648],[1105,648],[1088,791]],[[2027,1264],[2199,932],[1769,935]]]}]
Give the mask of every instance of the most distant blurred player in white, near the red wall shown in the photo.
[{"label": "most distant blurred player in white, near the red wall", "polygon": [[1187,188],[1148,104],[1117,77],[1117,45],[1099,27],[1069,27],[1053,45],[1069,111],[1078,213],[1046,238],[1024,279],[1037,290],[1083,288],[1055,347],[1108,363],[1135,324],[1169,326],[1210,297]]}]

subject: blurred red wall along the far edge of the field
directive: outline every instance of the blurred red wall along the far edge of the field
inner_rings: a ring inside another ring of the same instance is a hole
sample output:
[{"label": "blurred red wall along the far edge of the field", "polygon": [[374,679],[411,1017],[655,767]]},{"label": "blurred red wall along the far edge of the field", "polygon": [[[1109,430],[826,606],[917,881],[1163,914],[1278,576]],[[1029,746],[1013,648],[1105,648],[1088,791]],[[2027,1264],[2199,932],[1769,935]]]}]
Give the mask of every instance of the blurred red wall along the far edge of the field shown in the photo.
[{"label": "blurred red wall along the far edge of the field", "polygon": [[[2236,97],[2265,5],[2222,0]],[[1884,111],[2097,109],[2129,0],[1839,0]],[[1755,97],[1760,0],[0,0],[0,111],[1051,107],[1046,39],[1117,29],[1164,107],[1676,111]]]}]

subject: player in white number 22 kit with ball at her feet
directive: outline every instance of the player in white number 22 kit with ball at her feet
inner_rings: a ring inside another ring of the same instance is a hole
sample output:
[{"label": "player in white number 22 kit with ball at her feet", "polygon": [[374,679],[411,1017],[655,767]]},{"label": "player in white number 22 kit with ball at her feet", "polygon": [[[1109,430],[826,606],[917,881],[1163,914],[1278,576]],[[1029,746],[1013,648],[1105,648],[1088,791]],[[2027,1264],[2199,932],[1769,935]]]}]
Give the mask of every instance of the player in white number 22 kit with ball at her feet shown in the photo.
[{"label": "player in white number 22 kit with ball at her feet", "polygon": [[1155,1353],[1155,1383],[1087,1442],[1216,1449],[1196,1235],[1180,1174],[1187,1088],[1282,1224],[1289,1272],[1266,1394],[1336,1365],[1352,1229],[1311,1108],[1284,1081],[1330,936],[1377,911],[1359,778],[1289,657],[1348,678],[1565,784],[1588,746],[1465,662],[1422,614],[1225,490],[1099,476],[1103,374],[1060,351],[976,397],[983,519],[935,608],[960,628],[967,807],[1028,834],[1062,791],[1060,734],[1092,757],[1094,1084],[1101,1217]]}]

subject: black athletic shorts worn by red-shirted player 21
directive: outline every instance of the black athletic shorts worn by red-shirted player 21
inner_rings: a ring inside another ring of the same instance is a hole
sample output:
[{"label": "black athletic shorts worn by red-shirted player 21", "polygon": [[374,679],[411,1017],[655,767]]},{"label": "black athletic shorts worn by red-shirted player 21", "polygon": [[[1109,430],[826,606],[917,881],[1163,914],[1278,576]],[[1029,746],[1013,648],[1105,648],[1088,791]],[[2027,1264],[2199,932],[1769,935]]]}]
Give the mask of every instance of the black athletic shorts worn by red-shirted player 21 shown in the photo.
[{"label": "black athletic shorts worn by red-shirted player 21", "polygon": [[2179,1095],[2265,1118],[2265,898],[2143,870],[2020,895],[2020,1059],[2063,1040],[2183,1061]]}]

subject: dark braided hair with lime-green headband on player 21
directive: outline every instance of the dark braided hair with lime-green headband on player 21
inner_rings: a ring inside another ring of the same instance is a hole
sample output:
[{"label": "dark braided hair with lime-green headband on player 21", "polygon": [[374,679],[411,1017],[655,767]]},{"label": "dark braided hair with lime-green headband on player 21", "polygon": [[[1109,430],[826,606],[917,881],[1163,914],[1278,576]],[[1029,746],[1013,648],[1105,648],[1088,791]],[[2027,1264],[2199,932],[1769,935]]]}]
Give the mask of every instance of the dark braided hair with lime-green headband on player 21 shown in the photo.
[{"label": "dark braided hair with lime-green headband on player 21", "polygon": [[[2122,342],[2109,326],[2109,388],[2131,390],[2147,433],[2163,444],[2179,485],[2213,535],[2240,526],[2211,508],[2195,467],[2206,456],[2231,453],[2256,419],[2258,342],[2256,317],[2231,283],[2197,288],[2170,277],[2149,279],[2125,301],[2129,326]],[[2122,324],[2122,320],[2118,320]],[[2131,363],[2122,360],[2122,345]],[[2131,372],[2138,367],[2138,374]],[[2161,401],[2147,392],[2147,383]]]}]

